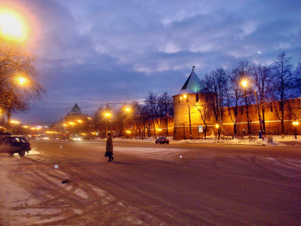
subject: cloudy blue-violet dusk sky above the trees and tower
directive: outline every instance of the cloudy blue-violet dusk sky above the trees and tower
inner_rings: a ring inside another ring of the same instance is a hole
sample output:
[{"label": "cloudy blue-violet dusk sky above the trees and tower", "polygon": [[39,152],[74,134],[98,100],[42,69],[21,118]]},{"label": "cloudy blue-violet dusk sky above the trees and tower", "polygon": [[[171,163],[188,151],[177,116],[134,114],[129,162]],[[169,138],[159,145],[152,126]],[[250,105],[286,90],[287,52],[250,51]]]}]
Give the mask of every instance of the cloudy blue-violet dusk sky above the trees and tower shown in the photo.
[{"label": "cloudy blue-violet dusk sky above the trees and tower", "polygon": [[[36,55],[47,90],[22,123],[55,122],[75,103],[91,114],[104,103],[175,95],[191,73],[240,61],[301,62],[300,1],[0,0],[24,18],[24,48]],[[118,107],[118,105],[115,105]]]}]

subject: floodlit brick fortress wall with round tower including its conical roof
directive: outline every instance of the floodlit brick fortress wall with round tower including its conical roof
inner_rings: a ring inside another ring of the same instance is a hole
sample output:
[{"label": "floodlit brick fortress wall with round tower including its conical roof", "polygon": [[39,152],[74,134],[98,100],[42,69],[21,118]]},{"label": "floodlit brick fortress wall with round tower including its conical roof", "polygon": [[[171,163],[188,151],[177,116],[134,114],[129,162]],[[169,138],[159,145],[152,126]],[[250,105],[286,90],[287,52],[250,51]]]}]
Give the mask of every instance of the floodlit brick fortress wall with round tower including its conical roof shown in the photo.
[{"label": "floodlit brick fortress wall with round tower including its conical roof", "polygon": [[[200,93],[200,79],[191,72],[182,89],[173,96],[174,102],[174,131],[173,139],[182,140],[190,138],[218,135],[216,118],[213,114],[206,114],[206,94]],[[293,121],[301,118],[301,99],[290,99],[284,105],[284,130],[286,135],[301,133],[301,124],[295,127]],[[278,102],[265,103],[265,132],[267,135],[281,134],[281,115]],[[205,110],[205,111],[204,111]],[[208,112],[207,112],[208,113]],[[260,124],[256,105],[248,105],[251,136],[259,136]],[[260,114],[262,112],[260,109]],[[247,134],[246,106],[238,107],[237,119],[234,117],[234,108],[222,108],[222,127],[224,136],[234,136],[234,122],[236,122],[237,136]],[[199,130],[200,128],[200,130]]]}]

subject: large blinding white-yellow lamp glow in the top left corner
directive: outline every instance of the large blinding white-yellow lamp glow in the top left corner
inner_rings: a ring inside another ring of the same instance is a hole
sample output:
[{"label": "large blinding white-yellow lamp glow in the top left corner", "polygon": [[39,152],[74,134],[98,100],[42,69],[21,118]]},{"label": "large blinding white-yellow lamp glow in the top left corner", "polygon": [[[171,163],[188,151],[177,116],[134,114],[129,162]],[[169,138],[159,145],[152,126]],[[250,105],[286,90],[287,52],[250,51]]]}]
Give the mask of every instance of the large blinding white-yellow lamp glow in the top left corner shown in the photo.
[{"label": "large blinding white-yellow lamp glow in the top left corner", "polygon": [[0,10],[0,32],[8,39],[22,41],[26,38],[24,20],[15,12]]}]

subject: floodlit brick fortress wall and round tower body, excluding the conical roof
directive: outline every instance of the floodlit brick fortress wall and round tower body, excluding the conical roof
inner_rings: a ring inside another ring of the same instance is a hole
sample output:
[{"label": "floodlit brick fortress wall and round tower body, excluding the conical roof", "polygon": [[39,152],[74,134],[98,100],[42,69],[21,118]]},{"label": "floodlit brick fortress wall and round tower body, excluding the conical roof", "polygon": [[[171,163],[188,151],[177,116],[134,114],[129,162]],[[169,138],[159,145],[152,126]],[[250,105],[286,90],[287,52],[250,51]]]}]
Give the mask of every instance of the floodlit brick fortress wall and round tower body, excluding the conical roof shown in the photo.
[{"label": "floodlit brick fortress wall and round tower body, excluding the conical roof", "polygon": [[[187,97],[184,98],[184,96],[174,96],[174,132],[173,132],[173,139],[174,140],[182,140],[184,138],[184,129],[183,129],[183,123],[185,124],[185,138],[190,138],[190,127],[189,127],[189,110],[188,110],[188,104],[190,105],[190,119],[191,119],[191,136],[192,138],[197,137],[204,137],[204,128],[205,124],[203,123],[201,119],[201,114],[198,111],[194,105],[201,105],[201,96],[198,94],[198,100],[197,100],[197,94],[187,94]],[[182,99],[180,99],[182,97]],[[278,114],[281,114],[279,112],[279,105],[276,103],[276,107],[278,108]],[[198,108],[201,108],[200,106]],[[261,109],[260,109],[261,110]],[[233,108],[230,109],[232,117],[234,115]],[[300,105],[299,101],[297,99],[292,99],[289,102],[286,103],[284,106],[284,130],[285,134],[291,135],[295,133],[295,127],[293,126],[292,122],[295,120],[294,115],[300,119]],[[232,136],[234,135],[234,127],[233,122],[231,121],[231,116],[229,115],[228,108],[224,108],[222,110],[223,115],[223,131],[224,136]],[[261,112],[260,112],[261,113]],[[262,116],[262,113],[261,113]],[[259,135],[259,119],[258,119],[258,113],[256,110],[256,105],[249,105],[249,120],[251,121],[250,127],[251,127],[251,135],[258,136]],[[217,135],[218,131],[215,127],[216,120],[214,116],[211,116],[208,120],[206,120],[207,124],[207,132],[206,135],[209,136],[214,133],[214,135]],[[203,133],[198,133],[198,126],[203,126]],[[243,129],[245,130],[245,135],[247,135],[248,127],[247,127],[247,114],[246,114],[246,107],[245,105],[240,106],[238,108],[238,114],[237,114],[237,135],[242,136],[243,135]],[[275,107],[268,106],[266,107],[265,111],[265,128],[266,128],[266,134],[267,135],[278,135],[281,134],[281,122],[279,118],[276,116]],[[297,135],[301,134],[301,124],[299,124],[299,127],[297,127]]]}]

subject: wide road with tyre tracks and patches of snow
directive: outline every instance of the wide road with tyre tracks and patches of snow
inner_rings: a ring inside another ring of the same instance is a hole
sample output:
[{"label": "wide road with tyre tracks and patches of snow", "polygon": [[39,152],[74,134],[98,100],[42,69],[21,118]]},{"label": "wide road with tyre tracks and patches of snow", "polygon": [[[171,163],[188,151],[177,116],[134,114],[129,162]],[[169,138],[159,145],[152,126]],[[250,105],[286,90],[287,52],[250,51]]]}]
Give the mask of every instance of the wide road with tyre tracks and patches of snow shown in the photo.
[{"label": "wide road with tyre tracks and patches of snow", "polygon": [[301,225],[300,146],[30,142],[0,154],[2,225]]}]

